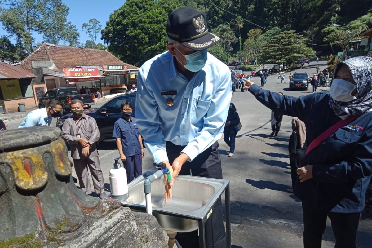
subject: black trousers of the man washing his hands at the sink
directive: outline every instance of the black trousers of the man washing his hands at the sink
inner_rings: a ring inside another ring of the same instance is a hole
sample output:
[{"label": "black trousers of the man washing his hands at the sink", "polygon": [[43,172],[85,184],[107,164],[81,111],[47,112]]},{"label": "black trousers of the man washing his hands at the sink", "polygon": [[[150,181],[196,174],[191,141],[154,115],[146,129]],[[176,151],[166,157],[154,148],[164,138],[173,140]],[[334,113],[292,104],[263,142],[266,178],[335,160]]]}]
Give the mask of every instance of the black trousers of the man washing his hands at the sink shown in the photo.
[{"label": "black trousers of the man washing his hands at the sink", "polygon": [[[198,177],[210,177],[222,179],[221,160],[218,153],[218,142],[199,154],[193,161],[187,161],[179,175],[195,175]],[[185,146],[174,145],[167,142],[166,150],[170,164],[180,155]],[[177,184],[174,186],[177,187]],[[177,233],[177,241],[182,248],[198,248],[198,230],[193,232]],[[205,222],[205,244],[208,248],[225,248],[226,232],[222,219],[222,203],[218,199],[213,207],[212,214]]]}]

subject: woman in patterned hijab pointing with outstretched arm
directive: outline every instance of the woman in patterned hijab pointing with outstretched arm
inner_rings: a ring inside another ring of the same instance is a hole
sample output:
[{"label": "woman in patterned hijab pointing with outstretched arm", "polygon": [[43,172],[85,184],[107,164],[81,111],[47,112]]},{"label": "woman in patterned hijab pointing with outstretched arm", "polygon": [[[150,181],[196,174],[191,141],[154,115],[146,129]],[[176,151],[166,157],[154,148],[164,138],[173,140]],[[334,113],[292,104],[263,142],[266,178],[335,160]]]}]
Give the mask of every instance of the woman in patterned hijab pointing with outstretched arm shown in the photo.
[{"label": "woman in patterned hijab pointing with outstretched arm", "polygon": [[246,87],[270,109],[305,122],[308,147],[294,189],[302,201],[304,247],[321,247],[327,216],[335,247],[356,247],[372,174],[372,58],[338,63],[330,92],[290,97],[251,81]]}]

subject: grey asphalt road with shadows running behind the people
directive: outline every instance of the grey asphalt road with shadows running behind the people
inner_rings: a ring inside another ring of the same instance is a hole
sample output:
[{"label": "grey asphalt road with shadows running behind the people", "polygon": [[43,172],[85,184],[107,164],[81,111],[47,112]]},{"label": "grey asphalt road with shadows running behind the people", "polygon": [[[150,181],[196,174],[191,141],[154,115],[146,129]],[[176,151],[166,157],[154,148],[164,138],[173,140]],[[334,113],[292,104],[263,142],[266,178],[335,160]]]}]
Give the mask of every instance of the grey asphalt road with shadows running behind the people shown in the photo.
[{"label": "grey asphalt road with shadows running behind the people", "polygon": [[[314,74],[316,62],[292,71]],[[319,62],[321,70],[325,62]],[[286,80],[288,82],[286,73]],[[259,78],[253,78],[259,83]],[[289,96],[312,94],[308,90],[289,91],[287,84],[280,84],[278,75],[270,75],[265,89],[282,91]],[[318,87],[318,91],[329,88]],[[284,116],[278,137],[270,137],[271,111],[260,104],[249,92],[235,92],[232,102],[237,107],[243,128],[236,139],[235,154],[227,157],[228,146],[221,139],[219,152],[225,179],[231,181],[231,226],[234,248],[298,248],[302,247],[302,209],[300,201],[287,191],[291,185],[288,158],[288,141],[291,135],[292,117]],[[95,107],[102,106],[97,103]],[[17,128],[22,122],[6,122],[8,129]],[[115,142],[105,141],[99,145],[99,156],[106,190],[109,193],[109,170],[113,159],[119,157]],[[145,150],[142,170],[153,170],[153,160]],[[73,172],[74,177],[76,177]],[[177,184],[175,185],[177,187]],[[372,220],[361,220],[358,233],[360,248],[371,247]],[[334,247],[334,236],[327,223],[323,247]]]}]

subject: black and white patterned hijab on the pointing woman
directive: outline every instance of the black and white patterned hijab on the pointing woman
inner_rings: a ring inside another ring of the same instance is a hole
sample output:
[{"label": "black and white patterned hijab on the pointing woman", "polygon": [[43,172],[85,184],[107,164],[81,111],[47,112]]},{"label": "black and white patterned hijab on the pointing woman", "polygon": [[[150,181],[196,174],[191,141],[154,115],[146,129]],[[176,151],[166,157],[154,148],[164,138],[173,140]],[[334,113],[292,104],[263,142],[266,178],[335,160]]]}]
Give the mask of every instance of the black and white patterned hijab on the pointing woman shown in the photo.
[{"label": "black and white patterned hijab on the pointing woman", "polygon": [[372,58],[354,57],[346,59],[336,65],[333,78],[342,65],[346,65],[353,76],[356,85],[356,99],[351,102],[337,102],[332,97],[328,104],[337,116],[346,119],[349,115],[362,115],[372,111]]}]

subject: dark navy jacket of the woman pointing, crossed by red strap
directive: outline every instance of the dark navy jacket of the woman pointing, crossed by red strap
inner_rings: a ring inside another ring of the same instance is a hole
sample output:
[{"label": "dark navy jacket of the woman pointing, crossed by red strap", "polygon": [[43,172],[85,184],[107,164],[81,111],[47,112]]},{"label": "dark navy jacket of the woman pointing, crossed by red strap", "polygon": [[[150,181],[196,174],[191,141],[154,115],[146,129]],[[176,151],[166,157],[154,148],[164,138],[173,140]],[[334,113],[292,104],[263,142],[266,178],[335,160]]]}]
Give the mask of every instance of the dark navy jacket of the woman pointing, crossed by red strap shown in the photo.
[{"label": "dark navy jacket of the woman pointing, crossed by red strap", "polygon": [[[281,96],[256,84],[249,91],[266,107],[305,122],[306,142],[340,120],[328,105],[329,92],[301,97]],[[294,193],[311,206],[338,213],[364,208],[372,175],[372,112],[340,128],[305,157],[302,166],[313,165],[313,178],[297,180]]]}]

